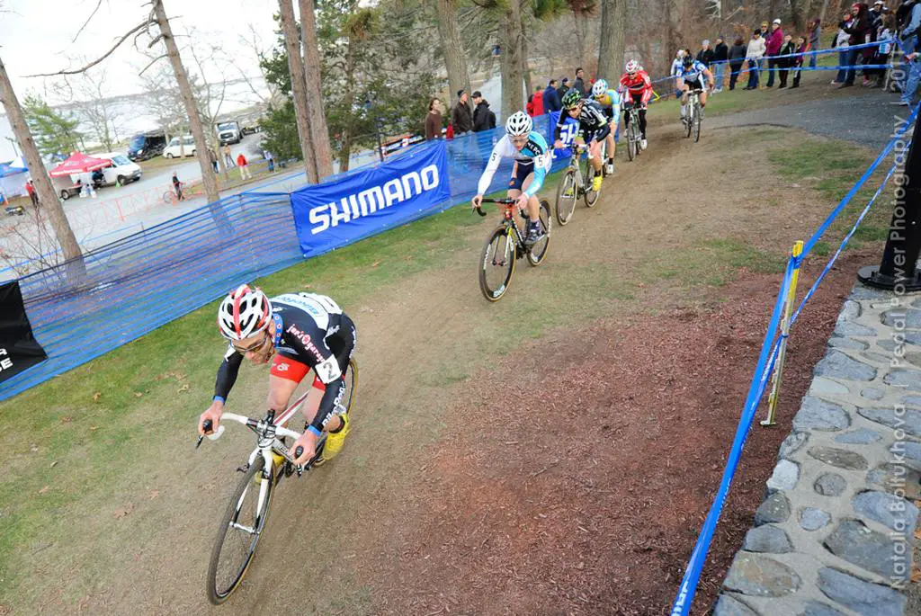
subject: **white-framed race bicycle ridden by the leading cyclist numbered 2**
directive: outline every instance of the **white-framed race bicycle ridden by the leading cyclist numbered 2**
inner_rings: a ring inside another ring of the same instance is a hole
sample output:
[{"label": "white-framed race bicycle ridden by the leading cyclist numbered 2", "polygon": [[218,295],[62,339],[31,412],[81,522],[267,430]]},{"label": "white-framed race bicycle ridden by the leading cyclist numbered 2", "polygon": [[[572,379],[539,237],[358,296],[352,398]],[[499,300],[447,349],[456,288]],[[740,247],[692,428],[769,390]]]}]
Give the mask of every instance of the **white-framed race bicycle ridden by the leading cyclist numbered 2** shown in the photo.
[{"label": "white-framed race bicycle ridden by the leading cyclist numbered 2", "polygon": [[[357,384],[358,365],[353,358],[349,360],[349,369],[345,375],[345,394],[340,402],[340,413],[352,413]],[[323,432],[317,442],[316,453],[303,465],[295,464],[294,461],[303,453],[302,447],[298,446],[292,454],[285,443],[286,438],[297,440],[297,437],[301,436],[301,433],[286,428],[285,424],[307,400],[310,391],[311,389],[308,389],[277,417],[274,411],[269,411],[262,419],[224,413],[221,415],[221,425],[216,433],[208,436],[209,439],[216,440],[224,432],[223,423],[231,421],[250,428],[256,434],[257,441],[250,459],[237,468],[238,472],[243,473],[243,477],[230,497],[224,517],[221,518],[215,547],[211,552],[211,562],[208,564],[205,581],[208,600],[215,605],[224,603],[230,597],[250,568],[256,554],[256,545],[265,532],[275,486],[295,472],[297,477],[300,477],[304,471],[316,466],[317,460],[321,458],[323,447],[326,445],[326,432]],[[205,420],[205,432],[210,432],[211,428],[211,421]],[[198,437],[196,448],[202,444],[203,438],[204,436]]]}]

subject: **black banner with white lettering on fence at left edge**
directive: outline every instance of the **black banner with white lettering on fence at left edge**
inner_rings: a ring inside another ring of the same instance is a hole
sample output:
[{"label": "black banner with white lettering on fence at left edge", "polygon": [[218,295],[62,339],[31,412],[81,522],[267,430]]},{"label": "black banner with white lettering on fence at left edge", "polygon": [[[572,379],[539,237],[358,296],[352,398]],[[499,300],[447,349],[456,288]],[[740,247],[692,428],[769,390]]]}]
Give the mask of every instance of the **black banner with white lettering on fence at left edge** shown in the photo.
[{"label": "black banner with white lettering on fence at left edge", "polygon": [[32,336],[19,282],[0,285],[0,383],[48,359]]}]

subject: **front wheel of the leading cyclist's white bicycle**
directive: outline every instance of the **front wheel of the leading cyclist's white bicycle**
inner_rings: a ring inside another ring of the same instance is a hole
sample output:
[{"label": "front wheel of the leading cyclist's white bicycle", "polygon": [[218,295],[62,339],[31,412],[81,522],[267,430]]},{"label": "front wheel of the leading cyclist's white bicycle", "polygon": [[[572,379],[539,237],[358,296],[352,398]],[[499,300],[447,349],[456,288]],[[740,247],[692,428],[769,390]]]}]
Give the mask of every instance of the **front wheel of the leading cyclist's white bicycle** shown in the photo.
[{"label": "front wheel of the leading cyclist's white bicycle", "polygon": [[244,473],[217,531],[207,577],[208,600],[215,605],[226,601],[239,587],[265,529],[273,481],[257,479],[262,476],[263,466],[265,460],[260,456]]}]

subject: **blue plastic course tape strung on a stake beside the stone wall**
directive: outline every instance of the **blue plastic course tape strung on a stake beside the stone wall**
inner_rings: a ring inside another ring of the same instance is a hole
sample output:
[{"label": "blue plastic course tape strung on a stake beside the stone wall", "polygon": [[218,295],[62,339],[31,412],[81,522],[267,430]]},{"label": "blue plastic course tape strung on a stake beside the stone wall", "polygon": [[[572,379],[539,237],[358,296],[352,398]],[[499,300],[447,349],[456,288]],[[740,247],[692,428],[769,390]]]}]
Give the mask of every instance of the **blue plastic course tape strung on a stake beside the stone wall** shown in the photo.
[{"label": "blue plastic course tape strung on a stake beside the stone wall", "polygon": [[[777,294],[777,299],[775,301],[774,310],[771,313],[771,320],[768,324],[767,331],[764,332],[764,342],[762,343],[761,353],[758,355],[758,363],[755,366],[754,374],[752,375],[752,382],[749,385],[748,396],[746,397],[745,405],[742,408],[739,426],[737,427],[736,435],[732,440],[732,447],[729,449],[729,459],[727,459],[726,467],[723,469],[723,477],[719,483],[717,495],[714,498],[712,506],[710,506],[710,511],[708,512],[704,521],[704,526],[700,531],[697,542],[694,544],[694,551],[691,553],[691,559],[688,562],[687,569],[684,572],[682,585],[679,588],[677,597],[672,603],[670,612],[671,616],[686,616],[686,614],[688,614],[688,612],[691,610],[691,603],[694,600],[694,593],[697,588],[697,583],[700,580],[701,573],[703,572],[706,554],[709,552],[710,542],[713,540],[713,534],[717,529],[719,515],[723,510],[723,505],[725,504],[726,497],[729,494],[729,485],[731,485],[732,479],[734,478],[736,470],[739,467],[742,449],[745,447],[745,440],[748,437],[749,430],[752,427],[752,421],[754,420],[754,414],[758,408],[758,402],[761,401],[762,396],[764,395],[764,389],[766,387],[767,381],[771,377],[771,374],[774,370],[777,353],[780,348],[779,326],[781,313],[784,307],[784,300],[787,297],[789,285],[791,284],[792,273],[794,269],[799,268],[799,264],[802,262],[802,260],[805,259],[810,251],[815,248],[816,243],[822,238],[822,235],[824,235],[825,231],[828,230],[828,227],[830,227],[838,215],[841,214],[841,212],[845,209],[845,206],[851,202],[851,200],[854,198],[854,195],[857,194],[857,191],[859,191],[860,188],[866,184],[867,180],[869,180],[869,177],[873,174],[873,172],[880,167],[882,161],[885,160],[886,157],[890,156],[892,149],[902,139],[905,131],[914,125],[915,116],[917,115],[919,109],[921,109],[921,106],[915,107],[915,110],[912,112],[911,116],[909,116],[908,120],[904,122],[902,126],[900,126],[899,130],[896,131],[896,134],[892,137],[890,142],[882,149],[880,156],[876,157],[876,159],[870,164],[869,168],[864,172],[859,180],[857,180],[857,183],[845,194],[837,206],[835,206],[834,210],[826,217],[824,222],[822,222],[822,225],[816,229],[815,233],[813,233],[808,240],[806,240],[803,246],[802,254],[799,257],[791,256],[787,262],[787,271],[784,274],[783,282],[780,285],[780,292]],[[869,200],[869,203],[867,203],[866,207],[864,207],[861,214],[857,217],[857,222],[853,227],[851,227],[850,232],[845,235],[845,238],[842,240],[832,258],[825,265],[820,276],[816,279],[815,283],[813,283],[806,296],[803,297],[802,302],[799,304],[799,308],[797,308],[793,318],[791,319],[791,324],[795,322],[797,318],[799,318],[799,313],[802,311],[802,308],[805,306],[806,302],[809,301],[810,297],[815,293],[816,288],[822,282],[825,274],[831,270],[832,265],[841,254],[841,251],[844,250],[847,241],[850,240],[850,238],[854,235],[854,232],[857,230],[857,226],[860,224],[860,222],[863,221],[864,217],[869,212],[869,208],[880,196],[880,193],[886,185],[886,182],[888,182],[888,180],[892,177],[894,170],[895,165],[892,166],[892,169],[889,169],[885,179],[880,184],[880,187]]]}]

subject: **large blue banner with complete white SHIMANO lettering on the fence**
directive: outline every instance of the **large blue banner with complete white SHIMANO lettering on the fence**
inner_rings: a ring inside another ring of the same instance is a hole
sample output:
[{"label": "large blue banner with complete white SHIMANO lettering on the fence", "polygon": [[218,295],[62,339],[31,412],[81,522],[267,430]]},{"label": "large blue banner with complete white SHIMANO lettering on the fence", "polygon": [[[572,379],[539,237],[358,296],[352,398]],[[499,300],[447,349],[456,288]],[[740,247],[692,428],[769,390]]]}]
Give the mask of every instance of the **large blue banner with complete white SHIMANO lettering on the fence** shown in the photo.
[{"label": "large blue banner with complete white SHIMANO lettering on the fence", "polygon": [[372,169],[291,193],[305,257],[367,238],[450,206],[445,142],[417,145]]}]

